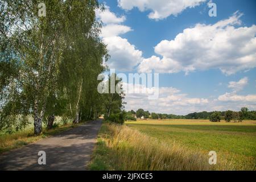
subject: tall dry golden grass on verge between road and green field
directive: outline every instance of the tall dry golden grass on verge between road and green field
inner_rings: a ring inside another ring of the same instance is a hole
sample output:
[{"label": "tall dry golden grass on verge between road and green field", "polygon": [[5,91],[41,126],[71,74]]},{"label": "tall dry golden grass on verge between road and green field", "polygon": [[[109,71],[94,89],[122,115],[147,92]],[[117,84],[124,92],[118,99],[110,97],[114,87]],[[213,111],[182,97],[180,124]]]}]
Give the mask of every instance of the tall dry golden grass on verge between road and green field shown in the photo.
[{"label": "tall dry golden grass on verge between road and green field", "polygon": [[[104,163],[109,163],[109,168],[115,170],[211,170],[208,163],[209,156],[199,152],[185,150],[175,143],[167,144],[158,139],[148,137],[138,130],[127,126],[104,124],[91,169],[102,169],[97,163],[105,155]],[[104,146],[102,146],[102,144]],[[99,147],[99,146],[98,146]],[[105,151],[105,152],[102,152]]]}]

